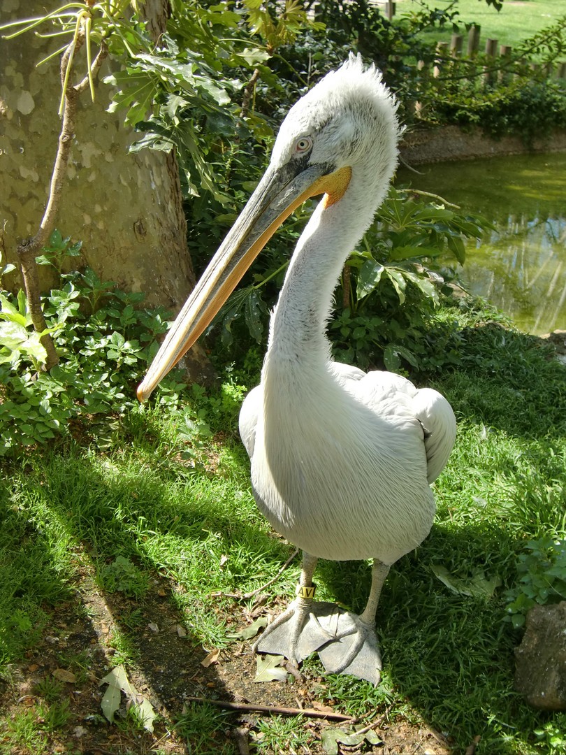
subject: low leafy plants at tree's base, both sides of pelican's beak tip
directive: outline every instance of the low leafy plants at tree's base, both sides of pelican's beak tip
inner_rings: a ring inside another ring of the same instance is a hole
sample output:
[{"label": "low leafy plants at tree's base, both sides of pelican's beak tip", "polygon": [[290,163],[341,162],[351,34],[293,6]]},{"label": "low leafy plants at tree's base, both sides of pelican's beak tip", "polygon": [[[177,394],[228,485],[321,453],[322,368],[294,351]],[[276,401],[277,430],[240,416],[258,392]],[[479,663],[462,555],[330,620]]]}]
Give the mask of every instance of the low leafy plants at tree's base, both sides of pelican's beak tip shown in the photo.
[{"label": "low leafy plants at tree's base, both sides of pelican's beak tip", "polygon": [[[65,436],[94,439],[99,448],[108,448],[122,418],[139,407],[136,387],[170,316],[161,307],[143,309],[144,294],[119,291],[89,267],[60,273],[69,251],[73,257],[78,249],[80,243],[54,231],[40,257],[60,281],[60,288],[42,299],[60,356],[49,372],[42,370],[45,349],[33,331],[23,291],[17,296],[0,291],[0,456]],[[174,423],[183,456],[198,453],[220,425],[235,431],[246,389],[232,368],[223,371],[226,380],[210,394],[192,385],[187,395],[178,370],[160,386],[157,402]]]}]

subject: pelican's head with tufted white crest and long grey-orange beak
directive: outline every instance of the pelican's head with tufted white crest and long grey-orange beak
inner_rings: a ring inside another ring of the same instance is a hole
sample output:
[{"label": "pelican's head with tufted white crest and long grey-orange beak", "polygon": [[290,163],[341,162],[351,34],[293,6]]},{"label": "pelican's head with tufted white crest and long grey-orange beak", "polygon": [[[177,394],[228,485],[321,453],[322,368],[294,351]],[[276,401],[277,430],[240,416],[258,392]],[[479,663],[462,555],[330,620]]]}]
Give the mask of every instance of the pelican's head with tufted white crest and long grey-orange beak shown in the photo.
[{"label": "pelican's head with tufted white crest and long grey-orange beak", "polygon": [[306,199],[324,194],[336,205],[365,177],[371,216],[383,199],[397,162],[396,103],[374,66],[350,55],[304,95],[281,124],[271,161],[257,189],[195,285],[161,345],[137,396],[155,386],[208,327],[281,223]]}]

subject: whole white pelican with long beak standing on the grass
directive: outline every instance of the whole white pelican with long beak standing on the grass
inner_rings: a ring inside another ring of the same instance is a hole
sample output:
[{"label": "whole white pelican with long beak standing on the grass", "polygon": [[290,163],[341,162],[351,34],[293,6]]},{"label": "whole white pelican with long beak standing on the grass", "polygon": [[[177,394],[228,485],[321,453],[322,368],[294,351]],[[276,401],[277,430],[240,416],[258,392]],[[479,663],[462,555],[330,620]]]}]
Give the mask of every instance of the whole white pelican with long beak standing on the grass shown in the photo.
[{"label": "whole white pelican with long beak standing on the grass", "polygon": [[[254,648],[374,684],[377,604],[389,567],[429,534],[430,483],[456,436],[450,404],[397,374],[334,362],[326,337],[343,264],[397,164],[397,105],[374,66],[349,60],[288,112],[271,161],[155,356],[141,401],[207,328],[280,224],[324,195],[291,257],[272,313],[260,385],[240,413],[251,485],[273,528],[303,550],[297,598]],[[360,615],[314,599],[317,560],[373,559]]]}]

